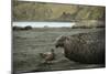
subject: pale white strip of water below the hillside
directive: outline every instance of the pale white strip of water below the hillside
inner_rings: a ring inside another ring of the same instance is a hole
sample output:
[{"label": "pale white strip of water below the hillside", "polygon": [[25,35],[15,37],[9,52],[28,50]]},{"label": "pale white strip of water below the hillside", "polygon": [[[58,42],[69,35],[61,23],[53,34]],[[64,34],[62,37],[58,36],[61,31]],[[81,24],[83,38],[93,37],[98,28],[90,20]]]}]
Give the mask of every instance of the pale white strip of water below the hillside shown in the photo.
[{"label": "pale white strip of water below the hillside", "polygon": [[26,27],[26,25],[31,25],[33,28],[44,28],[44,27],[48,27],[48,28],[63,28],[63,27],[73,27],[75,25],[74,22],[13,22],[12,25],[16,25],[16,27]]}]

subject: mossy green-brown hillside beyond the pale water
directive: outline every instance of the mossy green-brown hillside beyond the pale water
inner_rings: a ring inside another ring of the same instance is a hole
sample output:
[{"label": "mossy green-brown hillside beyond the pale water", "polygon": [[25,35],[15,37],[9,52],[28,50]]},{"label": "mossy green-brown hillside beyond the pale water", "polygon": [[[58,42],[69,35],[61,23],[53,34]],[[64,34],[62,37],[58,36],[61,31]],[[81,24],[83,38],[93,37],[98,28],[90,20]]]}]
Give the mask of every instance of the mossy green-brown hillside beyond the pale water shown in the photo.
[{"label": "mossy green-brown hillside beyond the pale water", "polygon": [[14,21],[105,20],[105,7],[13,1]]}]

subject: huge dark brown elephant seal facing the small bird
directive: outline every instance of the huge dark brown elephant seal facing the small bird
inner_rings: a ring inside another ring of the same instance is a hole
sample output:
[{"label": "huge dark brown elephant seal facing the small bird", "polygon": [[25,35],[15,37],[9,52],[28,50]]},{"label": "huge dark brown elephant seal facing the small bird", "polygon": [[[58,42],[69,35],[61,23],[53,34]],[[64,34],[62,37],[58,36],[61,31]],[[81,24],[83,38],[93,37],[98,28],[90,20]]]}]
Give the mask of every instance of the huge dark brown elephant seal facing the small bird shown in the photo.
[{"label": "huge dark brown elephant seal facing the small bird", "polygon": [[72,61],[105,64],[105,31],[59,36],[56,47],[64,47],[65,56]]}]

